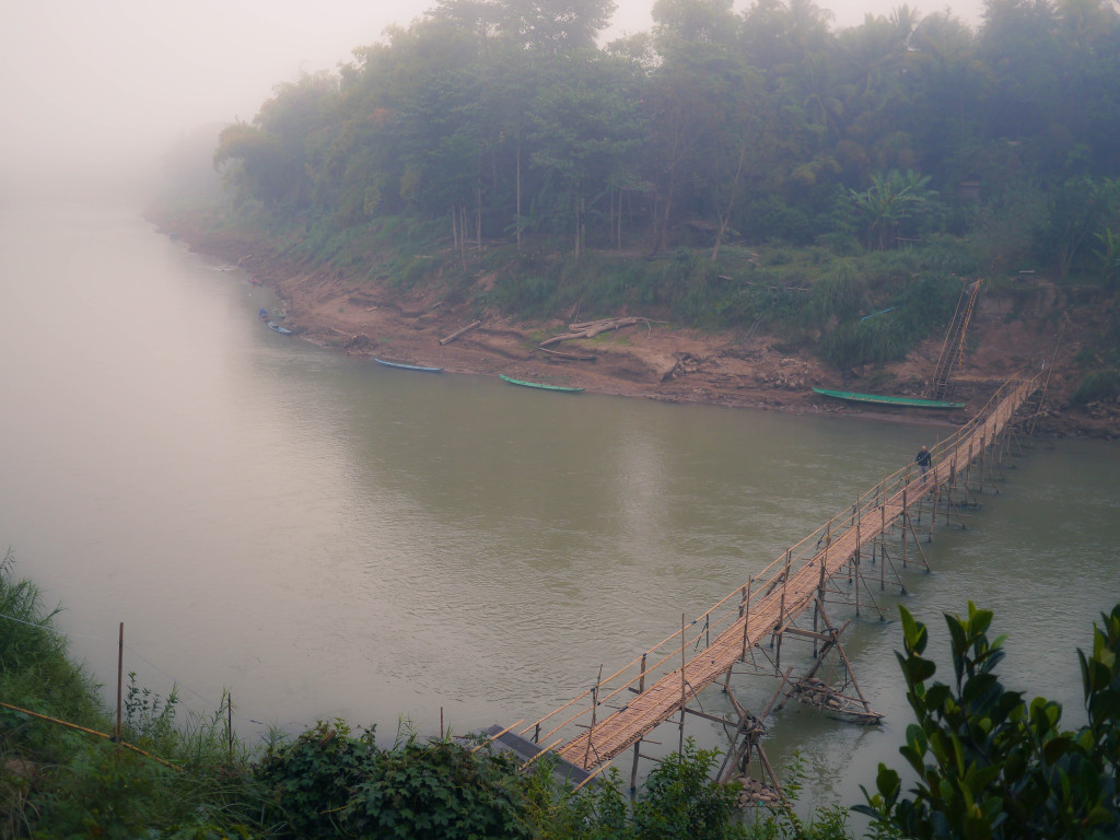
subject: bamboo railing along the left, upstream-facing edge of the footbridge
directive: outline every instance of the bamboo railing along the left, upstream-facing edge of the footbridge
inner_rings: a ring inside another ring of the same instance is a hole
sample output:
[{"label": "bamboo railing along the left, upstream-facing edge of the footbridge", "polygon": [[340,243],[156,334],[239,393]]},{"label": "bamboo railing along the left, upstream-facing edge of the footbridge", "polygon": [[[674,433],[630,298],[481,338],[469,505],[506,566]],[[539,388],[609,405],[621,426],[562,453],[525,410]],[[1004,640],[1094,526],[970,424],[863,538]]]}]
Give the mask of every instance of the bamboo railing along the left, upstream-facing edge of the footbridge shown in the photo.
[{"label": "bamboo railing along the left, upstream-facing edge of the footbridge", "polygon": [[[983,435],[986,424],[999,410],[1002,401],[1015,388],[1026,381],[1028,380],[1009,380],[969,422],[949,437],[937,441],[931,448],[934,469],[939,464],[944,463],[953,464],[953,469],[963,469],[967,465],[961,460],[962,452],[965,457],[979,457],[982,447],[976,442],[977,438]],[[942,473],[944,475],[935,473],[936,480],[948,480],[949,472],[943,469]],[[903,488],[920,480],[921,472],[913,461],[908,461],[904,467],[884,476],[870,489],[857,496],[851,505],[846,506],[803,540],[783,551],[760,571],[750,575],[746,582],[732,589],[709,609],[690,622],[682,620],[680,629],[646,648],[641,655],[635,656],[614,673],[600,678],[594,687],[588,688],[563,706],[529,724],[520,730],[520,734],[531,737],[539,744],[547,744],[547,748],[552,748],[562,740],[567,740],[566,737],[562,737],[562,732],[572,731],[573,728],[586,729],[601,722],[613,711],[624,708],[633,693],[645,691],[647,684],[653,684],[663,676],[681,669],[688,660],[696,656],[702,648],[708,647],[712,640],[718,638],[721,633],[738,624],[744,617],[749,617],[753,612],[758,609],[773,610],[774,603],[769,599],[780,589],[787,587],[792,578],[813,562],[822,549],[852,529],[861,526],[868,517],[876,517],[875,521],[881,529],[888,500],[897,496]],[[923,485],[923,494],[925,487],[927,485]],[[893,521],[895,516],[897,513],[890,514],[889,519]],[[844,558],[844,560],[847,559]],[[795,617],[810,603],[811,599],[802,598],[797,603],[785,604],[784,599],[778,596],[776,619],[766,622],[765,626],[781,625]],[[743,657],[745,659],[748,648],[758,638],[747,637],[748,626],[746,622],[741,626]],[[769,632],[769,629],[764,634],[756,632],[755,635],[760,637]],[[691,692],[689,693],[691,694]],[[600,713],[600,709],[603,713]],[[558,740],[550,743],[558,736],[560,736]]]}]

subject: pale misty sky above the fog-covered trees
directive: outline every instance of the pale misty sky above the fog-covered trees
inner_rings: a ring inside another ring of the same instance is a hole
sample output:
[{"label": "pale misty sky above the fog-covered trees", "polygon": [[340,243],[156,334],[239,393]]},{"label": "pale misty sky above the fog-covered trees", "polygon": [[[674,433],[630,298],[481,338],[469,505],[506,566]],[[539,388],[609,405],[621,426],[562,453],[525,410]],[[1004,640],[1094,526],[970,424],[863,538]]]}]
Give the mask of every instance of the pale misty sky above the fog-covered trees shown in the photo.
[{"label": "pale misty sky above the fog-covered trees", "polygon": [[[951,3],[976,26],[981,0]],[[613,34],[654,0],[617,0]],[[838,27],[900,0],[818,0]],[[279,82],[334,69],[435,0],[2,0],[0,172],[158,155],[184,131],[251,120]],[[748,3],[736,0],[736,9]],[[923,13],[944,0],[911,0]]]}]

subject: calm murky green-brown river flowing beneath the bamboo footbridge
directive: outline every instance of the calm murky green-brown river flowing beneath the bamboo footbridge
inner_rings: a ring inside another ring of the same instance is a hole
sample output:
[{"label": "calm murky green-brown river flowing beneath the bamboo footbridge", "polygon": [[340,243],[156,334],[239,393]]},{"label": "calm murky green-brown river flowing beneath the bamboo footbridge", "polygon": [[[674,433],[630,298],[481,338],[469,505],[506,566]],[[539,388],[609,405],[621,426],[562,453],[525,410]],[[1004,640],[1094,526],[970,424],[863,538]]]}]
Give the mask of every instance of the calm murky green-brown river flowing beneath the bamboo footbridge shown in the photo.
[{"label": "calm murky green-brown river flowing beneath the bamboo footbridge", "polygon": [[[946,433],[342,357],[264,329],[267,289],[128,205],[9,205],[0,261],[0,543],[106,697],[123,622],[125,671],[198,712],[230,690],[251,743],[333,717],[384,737],[532,720]],[[943,612],[995,609],[1007,681],[1074,725],[1074,648],[1120,600],[1118,450],[1037,440],[1009,466],[904,600],[935,655]],[[846,634],[884,726],[774,721],[771,760],[803,756],[812,803],[902,766],[898,601]],[[740,682],[756,709],[774,688]]]}]

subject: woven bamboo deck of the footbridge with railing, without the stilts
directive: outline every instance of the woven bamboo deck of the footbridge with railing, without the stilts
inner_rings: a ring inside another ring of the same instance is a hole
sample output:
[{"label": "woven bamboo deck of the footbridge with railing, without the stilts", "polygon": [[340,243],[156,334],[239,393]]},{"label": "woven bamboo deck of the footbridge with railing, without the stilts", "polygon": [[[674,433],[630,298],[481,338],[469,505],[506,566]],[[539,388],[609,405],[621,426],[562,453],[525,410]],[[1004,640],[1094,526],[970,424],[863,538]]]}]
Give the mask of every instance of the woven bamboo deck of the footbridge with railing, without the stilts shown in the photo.
[{"label": "woven bamboo deck of the footbridge with railing, without the stilts", "polygon": [[[581,734],[567,743],[557,746],[560,744],[557,741],[553,745],[560,757],[585,769],[604,766],[660,724],[680,712],[706,687],[743,661],[750,646],[772,637],[810,609],[822,594],[825,581],[840,575],[849,563],[849,571],[857,578],[857,590],[860,582],[866,586],[867,581],[862,579],[860,569],[861,552],[875,540],[881,540],[886,530],[903,517],[909,507],[920,504],[923,496],[940,493],[943,487],[951,488],[955,485],[956,477],[977,460],[981,461],[982,469],[986,451],[1000,439],[1015,412],[1036,389],[1037,377],[1007,383],[984,411],[934,448],[934,466],[924,479],[917,475],[913,465],[885,478],[880,485],[858,500],[850,511],[838,514],[799,545],[777,558],[746,586],[732,591],[691,625],[682,627],[652,648],[642,656],[641,663],[635,660],[600,681],[595,690],[581,694],[580,698],[590,701],[590,708],[584,707],[581,711],[556,725],[548,734],[551,736],[570,725],[584,727]],[[904,528],[906,522],[903,519]],[[884,564],[880,562],[880,567]],[[763,580],[767,573],[771,577]],[[758,585],[757,588],[754,588],[755,585]],[[701,620],[702,629],[688,637],[689,627],[696,628]],[[711,640],[713,625],[718,628],[720,624],[727,626]],[[701,638],[709,638],[710,643],[700,647]],[[699,652],[682,666],[664,673],[674,661],[682,662],[685,659],[684,652],[693,640]],[[671,647],[670,643],[673,643]],[[647,663],[651,654],[661,655],[660,661]],[[645,687],[647,676],[655,680],[648,688]],[[635,691],[636,694],[631,693]],[[619,702],[625,704],[603,720],[596,720],[597,709],[603,706],[609,708],[608,701],[619,694],[622,697],[615,706]],[[542,725],[571,709],[580,698],[531,724],[523,731],[528,732],[535,726],[535,735],[539,737]],[[590,720],[587,719],[588,715]],[[575,722],[580,718],[581,724]]]}]

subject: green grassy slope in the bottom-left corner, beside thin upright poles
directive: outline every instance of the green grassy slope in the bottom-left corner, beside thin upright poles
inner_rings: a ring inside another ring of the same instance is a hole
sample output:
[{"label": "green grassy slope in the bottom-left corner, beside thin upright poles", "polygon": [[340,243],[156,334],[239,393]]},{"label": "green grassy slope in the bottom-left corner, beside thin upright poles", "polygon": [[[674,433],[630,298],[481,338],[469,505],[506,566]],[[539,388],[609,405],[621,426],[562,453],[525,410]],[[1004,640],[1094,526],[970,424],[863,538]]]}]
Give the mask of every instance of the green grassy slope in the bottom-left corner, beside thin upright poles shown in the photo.
[{"label": "green grassy slope in the bottom-left corner, beside thin upright poles", "polygon": [[[111,734],[100,687],[67,655],[34,584],[0,561],[0,697],[4,702]],[[216,809],[223,828],[252,812],[249,753],[230,748],[224,716],[178,721],[175,690],[160,698],[130,682],[122,739],[167,764],[73,727],[0,709],[0,837],[137,837],[196,821]]]}]

